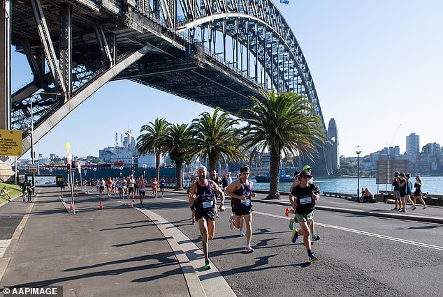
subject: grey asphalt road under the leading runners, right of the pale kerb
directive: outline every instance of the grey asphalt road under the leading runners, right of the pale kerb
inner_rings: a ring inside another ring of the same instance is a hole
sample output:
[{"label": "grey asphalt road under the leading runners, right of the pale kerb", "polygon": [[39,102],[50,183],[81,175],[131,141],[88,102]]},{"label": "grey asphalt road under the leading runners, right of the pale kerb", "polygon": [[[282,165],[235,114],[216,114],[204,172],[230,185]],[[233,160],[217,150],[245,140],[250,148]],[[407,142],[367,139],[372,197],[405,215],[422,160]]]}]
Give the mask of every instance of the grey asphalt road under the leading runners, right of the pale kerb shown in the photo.
[{"label": "grey asphalt road under the leading runners, right of the pale kerb", "polygon": [[[145,207],[201,248],[184,195],[148,197]],[[228,227],[230,209],[220,213],[210,258],[238,296],[442,295],[443,225],[317,210],[319,261],[310,264],[303,243],[290,242],[284,208],[254,203],[252,254]]]}]

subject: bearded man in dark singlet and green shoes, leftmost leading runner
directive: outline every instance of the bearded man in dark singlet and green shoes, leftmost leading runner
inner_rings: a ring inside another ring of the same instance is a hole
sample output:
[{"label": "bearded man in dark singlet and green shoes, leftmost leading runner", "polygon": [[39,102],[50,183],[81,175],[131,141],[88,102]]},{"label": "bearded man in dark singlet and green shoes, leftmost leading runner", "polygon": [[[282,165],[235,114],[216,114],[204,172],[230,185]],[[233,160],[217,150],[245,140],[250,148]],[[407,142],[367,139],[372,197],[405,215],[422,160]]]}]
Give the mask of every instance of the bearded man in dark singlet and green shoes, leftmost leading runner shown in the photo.
[{"label": "bearded man in dark singlet and green shoes, leftmost leading runner", "polygon": [[191,185],[189,189],[189,206],[194,205],[196,208],[196,220],[202,234],[203,253],[205,254],[205,270],[211,268],[209,261],[208,241],[214,238],[215,234],[215,208],[217,201],[215,200],[214,191],[217,191],[221,197],[219,211],[224,211],[224,192],[219,186],[206,178],[208,169],[200,166],[197,169],[198,180]]}]

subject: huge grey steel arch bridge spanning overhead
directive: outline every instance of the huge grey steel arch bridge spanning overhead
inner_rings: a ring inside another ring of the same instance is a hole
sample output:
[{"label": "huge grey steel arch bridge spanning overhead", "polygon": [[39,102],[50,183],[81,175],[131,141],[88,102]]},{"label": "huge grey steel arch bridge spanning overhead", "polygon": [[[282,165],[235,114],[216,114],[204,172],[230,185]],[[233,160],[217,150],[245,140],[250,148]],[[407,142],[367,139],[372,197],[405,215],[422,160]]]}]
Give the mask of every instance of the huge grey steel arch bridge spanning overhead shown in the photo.
[{"label": "huge grey steel arch bridge spanning overhead", "polygon": [[[38,141],[119,79],[232,114],[260,91],[305,94],[327,132],[305,56],[270,0],[15,0],[11,20],[34,75],[12,96],[23,151],[31,119]],[[331,172],[326,140],[316,166]]]}]

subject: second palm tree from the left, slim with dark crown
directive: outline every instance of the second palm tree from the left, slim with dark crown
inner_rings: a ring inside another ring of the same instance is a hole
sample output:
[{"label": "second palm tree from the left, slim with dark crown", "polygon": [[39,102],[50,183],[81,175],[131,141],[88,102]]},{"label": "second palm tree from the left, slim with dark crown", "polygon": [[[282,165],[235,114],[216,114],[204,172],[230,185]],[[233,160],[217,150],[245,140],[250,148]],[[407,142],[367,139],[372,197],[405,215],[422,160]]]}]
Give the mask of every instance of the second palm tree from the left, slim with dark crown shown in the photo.
[{"label": "second palm tree from the left, slim with dark crown", "polygon": [[169,152],[170,158],[175,162],[175,189],[183,190],[182,164],[189,161],[189,142],[192,139],[191,130],[187,124],[170,125],[166,129],[166,134],[161,139],[161,146]]}]

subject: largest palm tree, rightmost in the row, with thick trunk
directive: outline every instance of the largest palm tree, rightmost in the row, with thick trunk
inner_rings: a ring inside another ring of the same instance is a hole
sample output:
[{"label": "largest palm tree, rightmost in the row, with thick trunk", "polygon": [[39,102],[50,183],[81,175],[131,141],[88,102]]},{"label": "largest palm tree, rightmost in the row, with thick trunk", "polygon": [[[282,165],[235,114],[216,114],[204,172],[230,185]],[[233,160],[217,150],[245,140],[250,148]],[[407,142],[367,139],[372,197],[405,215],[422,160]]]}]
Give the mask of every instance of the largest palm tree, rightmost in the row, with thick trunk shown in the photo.
[{"label": "largest palm tree, rightmost in the row, with thick trunk", "polygon": [[251,159],[270,152],[270,185],[268,199],[280,199],[279,167],[282,154],[312,158],[316,142],[324,142],[321,119],[312,110],[312,102],[296,93],[263,92],[263,100],[250,97],[254,106],[242,109],[239,115],[247,126],[242,142],[245,150],[253,148]]}]

